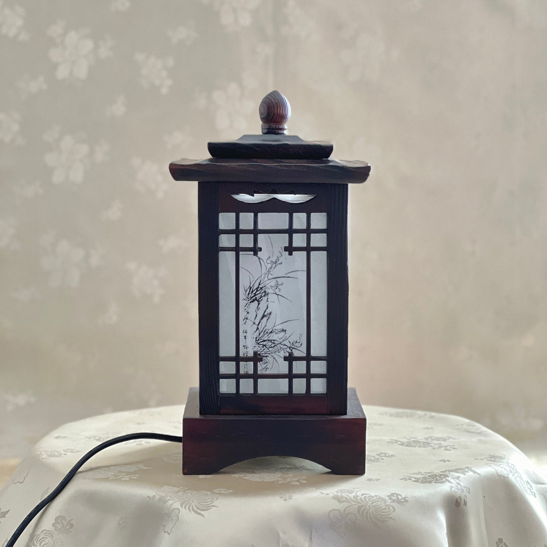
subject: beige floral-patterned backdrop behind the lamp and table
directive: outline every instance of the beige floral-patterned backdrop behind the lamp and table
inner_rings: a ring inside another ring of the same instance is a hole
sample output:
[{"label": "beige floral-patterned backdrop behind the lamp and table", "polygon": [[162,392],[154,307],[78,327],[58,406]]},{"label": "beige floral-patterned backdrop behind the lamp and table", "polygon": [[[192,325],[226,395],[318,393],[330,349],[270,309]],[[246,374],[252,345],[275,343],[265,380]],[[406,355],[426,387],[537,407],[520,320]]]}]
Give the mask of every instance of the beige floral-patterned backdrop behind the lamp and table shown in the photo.
[{"label": "beige floral-patterned backdrop behind the lamp and table", "polygon": [[[0,0],[0,457],[197,384],[196,184],[260,131],[351,189],[350,385],[547,445],[547,4]],[[160,429],[160,427],[159,427]]]}]

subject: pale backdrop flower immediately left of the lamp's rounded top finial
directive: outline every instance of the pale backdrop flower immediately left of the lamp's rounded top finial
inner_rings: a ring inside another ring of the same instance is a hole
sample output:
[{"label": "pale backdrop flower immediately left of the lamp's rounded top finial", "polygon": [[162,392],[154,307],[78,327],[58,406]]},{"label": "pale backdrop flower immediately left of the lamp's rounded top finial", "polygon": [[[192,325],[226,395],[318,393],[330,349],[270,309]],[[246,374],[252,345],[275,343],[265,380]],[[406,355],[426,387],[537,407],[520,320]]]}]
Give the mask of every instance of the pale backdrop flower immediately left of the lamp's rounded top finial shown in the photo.
[{"label": "pale backdrop flower immediately left of the lamp's rounded top finial", "polygon": [[239,84],[230,82],[225,89],[213,91],[211,98],[216,110],[214,124],[220,133],[233,135],[246,130],[247,120],[254,113],[256,104]]}]

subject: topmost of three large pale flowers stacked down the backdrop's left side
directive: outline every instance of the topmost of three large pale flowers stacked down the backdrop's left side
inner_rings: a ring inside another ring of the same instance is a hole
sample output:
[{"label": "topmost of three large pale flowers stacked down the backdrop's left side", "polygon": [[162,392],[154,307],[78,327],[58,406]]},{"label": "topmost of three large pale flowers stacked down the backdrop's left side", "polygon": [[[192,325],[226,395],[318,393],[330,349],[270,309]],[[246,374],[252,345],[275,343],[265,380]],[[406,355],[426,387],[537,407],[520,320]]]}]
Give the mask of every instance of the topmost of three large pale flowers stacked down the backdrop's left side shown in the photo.
[{"label": "topmost of three large pale flowers stacked down the backdrop's left side", "polygon": [[53,38],[56,44],[48,51],[48,55],[57,65],[55,77],[58,80],[82,83],[97,59],[105,59],[112,55],[114,43],[106,37],[96,44],[95,40],[88,36],[89,28],[65,31],[65,26],[65,21],[57,21],[48,28],[48,36]]}]

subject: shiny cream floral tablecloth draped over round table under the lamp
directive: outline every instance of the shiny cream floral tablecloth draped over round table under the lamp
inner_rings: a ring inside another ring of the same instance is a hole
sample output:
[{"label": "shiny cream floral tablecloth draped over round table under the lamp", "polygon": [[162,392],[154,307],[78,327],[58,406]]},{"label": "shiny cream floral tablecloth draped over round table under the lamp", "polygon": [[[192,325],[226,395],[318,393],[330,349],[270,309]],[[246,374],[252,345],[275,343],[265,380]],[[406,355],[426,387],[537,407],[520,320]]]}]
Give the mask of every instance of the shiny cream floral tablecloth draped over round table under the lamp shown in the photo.
[{"label": "shiny cream floral tablecloth draped over round table under the lamp", "polygon": [[[0,542],[96,444],[182,434],[183,406],[69,423],[0,493]],[[30,547],[543,547],[547,485],[507,440],[456,416],[365,407],[364,476],[292,457],[183,476],[181,445],[137,440],[92,458],[19,539]]]}]

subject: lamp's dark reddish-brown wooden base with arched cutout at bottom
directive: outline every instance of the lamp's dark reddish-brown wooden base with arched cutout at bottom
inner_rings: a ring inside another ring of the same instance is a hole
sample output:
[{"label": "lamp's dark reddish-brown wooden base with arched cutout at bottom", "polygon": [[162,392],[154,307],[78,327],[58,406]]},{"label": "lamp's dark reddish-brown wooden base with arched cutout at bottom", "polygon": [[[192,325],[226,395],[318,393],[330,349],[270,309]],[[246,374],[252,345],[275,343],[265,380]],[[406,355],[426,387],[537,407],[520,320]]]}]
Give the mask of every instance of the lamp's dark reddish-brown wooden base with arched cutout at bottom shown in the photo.
[{"label": "lamp's dark reddish-brown wooden base with arched cutout at bottom", "polygon": [[366,417],[355,388],[348,388],[347,414],[202,415],[191,387],[183,417],[182,472],[211,475],[246,459],[294,456],[336,475],[365,473]]}]

